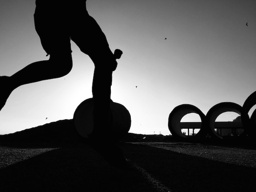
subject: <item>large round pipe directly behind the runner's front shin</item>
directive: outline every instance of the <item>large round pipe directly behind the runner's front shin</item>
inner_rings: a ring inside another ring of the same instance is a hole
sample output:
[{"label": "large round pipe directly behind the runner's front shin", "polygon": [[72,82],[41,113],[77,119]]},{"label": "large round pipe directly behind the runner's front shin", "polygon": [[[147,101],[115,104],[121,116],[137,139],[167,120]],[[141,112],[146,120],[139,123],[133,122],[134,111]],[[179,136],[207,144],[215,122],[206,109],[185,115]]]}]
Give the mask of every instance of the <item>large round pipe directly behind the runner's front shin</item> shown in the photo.
[{"label": "large round pipe directly behind the runner's front shin", "polygon": [[[93,131],[93,98],[84,100],[74,112],[74,125],[76,132],[83,138]],[[113,138],[119,140],[130,130],[131,116],[123,105],[110,101],[110,130]]]}]

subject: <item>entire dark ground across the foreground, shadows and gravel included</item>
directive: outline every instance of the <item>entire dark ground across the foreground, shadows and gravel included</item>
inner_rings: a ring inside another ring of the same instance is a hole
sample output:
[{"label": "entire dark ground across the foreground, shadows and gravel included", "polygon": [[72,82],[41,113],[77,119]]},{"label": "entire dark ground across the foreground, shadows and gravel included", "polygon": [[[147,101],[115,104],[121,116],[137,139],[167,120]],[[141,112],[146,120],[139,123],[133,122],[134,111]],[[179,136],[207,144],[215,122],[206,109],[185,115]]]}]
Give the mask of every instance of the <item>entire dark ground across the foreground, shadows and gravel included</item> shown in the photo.
[{"label": "entire dark ground across the foreground, shadows and gravel included", "polygon": [[[130,168],[120,170],[84,143],[67,142],[64,137],[56,140],[57,132],[43,136],[38,130],[0,137],[0,192],[256,191],[255,147],[121,142],[118,145]],[[24,141],[31,136],[32,140]],[[16,142],[11,142],[14,138]],[[56,142],[49,143],[50,138]],[[67,144],[57,145],[57,141]]]}]

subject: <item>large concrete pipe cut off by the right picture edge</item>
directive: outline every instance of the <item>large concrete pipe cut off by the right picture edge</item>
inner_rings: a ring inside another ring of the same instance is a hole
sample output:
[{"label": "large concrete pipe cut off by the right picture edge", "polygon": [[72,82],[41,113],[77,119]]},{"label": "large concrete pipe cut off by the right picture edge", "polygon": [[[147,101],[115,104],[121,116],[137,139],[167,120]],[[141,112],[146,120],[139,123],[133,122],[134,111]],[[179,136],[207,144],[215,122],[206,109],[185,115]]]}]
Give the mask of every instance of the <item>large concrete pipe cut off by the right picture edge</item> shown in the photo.
[{"label": "large concrete pipe cut off by the right picture edge", "polygon": [[256,112],[254,111],[251,118],[249,118],[249,111],[256,104],[256,92],[253,92],[246,100],[243,105],[243,111],[241,114],[243,126],[248,130],[250,136],[256,134]]}]

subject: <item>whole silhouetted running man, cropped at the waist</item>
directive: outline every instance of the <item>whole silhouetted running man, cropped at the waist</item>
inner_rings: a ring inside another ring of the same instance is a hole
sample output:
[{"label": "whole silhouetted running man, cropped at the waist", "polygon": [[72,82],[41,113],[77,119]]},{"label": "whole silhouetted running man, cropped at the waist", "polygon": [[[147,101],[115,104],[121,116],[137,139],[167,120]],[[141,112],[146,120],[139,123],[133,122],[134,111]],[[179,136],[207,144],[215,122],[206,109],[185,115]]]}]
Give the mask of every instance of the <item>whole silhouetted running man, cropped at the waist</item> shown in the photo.
[{"label": "whole silhouetted running man, cropped at the waist", "polygon": [[[117,67],[117,57],[97,22],[89,16],[85,3],[86,0],[36,0],[35,28],[49,60],[31,63],[10,77],[0,77],[0,109],[20,85],[68,74],[72,69],[72,40],[95,65],[92,84],[94,131],[90,143],[110,163],[121,165],[125,163],[122,152],[108,140],[107,134],[112,71]],[[105,143],[104,147],[97,144],[100,141]]]}]

